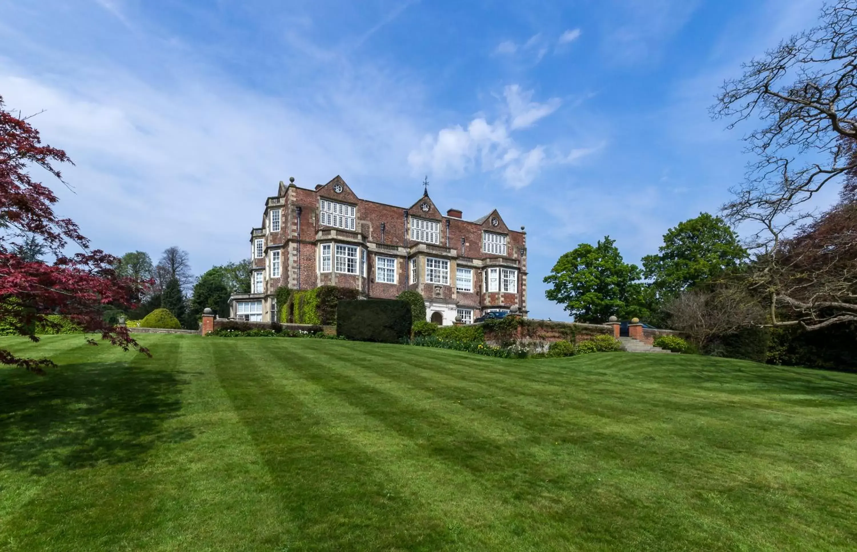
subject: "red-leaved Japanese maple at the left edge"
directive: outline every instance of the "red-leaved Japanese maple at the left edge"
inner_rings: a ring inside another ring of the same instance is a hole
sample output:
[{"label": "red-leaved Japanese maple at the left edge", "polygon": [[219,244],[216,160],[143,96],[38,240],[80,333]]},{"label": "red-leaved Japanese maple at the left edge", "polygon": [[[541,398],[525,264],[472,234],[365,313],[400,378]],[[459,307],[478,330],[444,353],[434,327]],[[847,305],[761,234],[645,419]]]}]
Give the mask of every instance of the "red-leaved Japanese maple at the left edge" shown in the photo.
[{"label": "red-leaved Japanese maple at the left edge", "polygon": [[[148,355],[128,328],[107,324],[102,317],[105,304],[133,307],[135,284],[117,276],[116,257],[90,250],[89,240],[71,219],[57,218],[51,207],[57,196],[28,173],[41,167],[63,183],[54,166],[60,163],[71,159],[61,149],[42,145],[39,131],[26,117],[7,111],[0,96],[0,321],[15,333],[39,341],[36,327],[57,326],[47,315],[65,315],[85,331],[101,333],[101,339],[112,345]],[[54,258],[52,264],[18,254],[21,243],[33,237]],[[73,245],[82,252],[67,253]],[[97,345],[91,338],[87,342]],[[0,364],[39,374],[54,365],[49,358],[16,357],[2,348]]]}]

